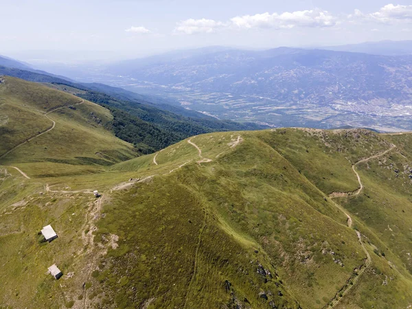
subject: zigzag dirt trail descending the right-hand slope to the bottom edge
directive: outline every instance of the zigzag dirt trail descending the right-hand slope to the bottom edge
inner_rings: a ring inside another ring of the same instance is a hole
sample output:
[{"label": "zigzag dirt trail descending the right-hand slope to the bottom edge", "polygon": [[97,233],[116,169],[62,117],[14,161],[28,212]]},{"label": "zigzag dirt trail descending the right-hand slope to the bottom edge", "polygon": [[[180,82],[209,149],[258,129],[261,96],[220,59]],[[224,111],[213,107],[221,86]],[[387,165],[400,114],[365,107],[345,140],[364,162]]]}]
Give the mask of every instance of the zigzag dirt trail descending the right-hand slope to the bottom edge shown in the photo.
[{"label": "zigzag dirt trail descending the right-hand slope to the bottom edge", "polygon": [[[389,151],[393,150],[394,148],[396,148],[396,146],[392,144],[391,148],[385,150],[384,152],[379,152],[376,155],[373,155],[371,157],[367,157],[365,159],[359,160],[358,162],[354,163],[354,165],[352,165],[352,170],[354,171],[354,173],[356,174],[356,178],[358,179],[358,183],[359,183],[358,189],[354,192],[333,192],[332,194],[330,194],[330,198],[344,197],[344,196],[356,196],[356,195],[360,194],[361,191],[363,190],[363,183],[362,183],[362,180],[361,180],[361,176],[358,174],[358,172],[356,172],[356,165],[358,165],[360,163],[367,162],[371,159],[375,159],[375,158],[381,157],[383,155],[386,155]],[[351,218],[350,214],[348,214],[347,211],[345,211],[345,209],[343,209],[343,207],[341,207],[341,205],[339,205],[338,203],[335,203],[334,201],[332,201],[332,203],[336,207],[338,207],[343,212],[343,214],[345,214],[347,216],[347,226],[352,227],[352,218]],[[359,243],[362,246],[363,251],[366,254],[366,260],[365,260],[366,262],[365,262],[365,266],[363,268],[361,268],[361,271],[359,271],[358,275],[355,276],[352,279],[352,284],[346,284],[345,286],[347,286],[347,288],[345,288],[345,290],[343,290],[343,291],[339,291],[339,294],[341,293],[342,297],[344,297],[350,291],[352,286],[354,286],[356,284],[356,282],[358,281],[358,278],[361,277],[361,275],[365,272],[365,270],[371,264],[371,256],[369,255],[369,252],[365,248],[365,244],[363,244],[363,242],[362,242],[361,233],[359,231],[356,231],[356,236],[358,238]],[[332,300],[330,305],[327,306],[327,308],[334,308],[337,304],[339,304],[339,301],[341,301],[341,299],[342,299],[342,297],[339,297],[339,294],[335,295],[334,299]]]}]

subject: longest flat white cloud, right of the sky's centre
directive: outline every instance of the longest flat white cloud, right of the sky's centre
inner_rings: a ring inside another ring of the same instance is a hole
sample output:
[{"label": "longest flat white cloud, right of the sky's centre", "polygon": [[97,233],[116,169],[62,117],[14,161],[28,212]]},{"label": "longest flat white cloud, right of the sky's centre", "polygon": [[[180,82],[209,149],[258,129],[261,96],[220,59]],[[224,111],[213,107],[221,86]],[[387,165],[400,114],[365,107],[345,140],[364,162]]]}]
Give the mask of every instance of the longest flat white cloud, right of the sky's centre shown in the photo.
[{"label": "longest flat white cloud, right of the sky's centre", "polygon": [[231,24],[239,28],[293,28],[293,27],[332,27],[337,20],[328,11],[304,10],[282,14],[255,14],[236,16]]}]

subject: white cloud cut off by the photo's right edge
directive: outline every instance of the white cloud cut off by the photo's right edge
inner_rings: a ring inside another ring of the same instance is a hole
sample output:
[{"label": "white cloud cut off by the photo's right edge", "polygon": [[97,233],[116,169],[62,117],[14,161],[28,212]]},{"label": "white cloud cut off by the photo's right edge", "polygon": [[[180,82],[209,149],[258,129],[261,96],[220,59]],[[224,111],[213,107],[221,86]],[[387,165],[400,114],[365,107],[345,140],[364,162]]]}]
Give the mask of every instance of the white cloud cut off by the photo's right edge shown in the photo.
[{"label": "white cloud cut off by the photo's right edge", "polygon": [[350,14],[347,17],[349,19],[366,19],[379,23],[412,22],[412,5],[387,4],[380,8],[378,12],[363,14],[360,10],[355,10],[354,14]]}]

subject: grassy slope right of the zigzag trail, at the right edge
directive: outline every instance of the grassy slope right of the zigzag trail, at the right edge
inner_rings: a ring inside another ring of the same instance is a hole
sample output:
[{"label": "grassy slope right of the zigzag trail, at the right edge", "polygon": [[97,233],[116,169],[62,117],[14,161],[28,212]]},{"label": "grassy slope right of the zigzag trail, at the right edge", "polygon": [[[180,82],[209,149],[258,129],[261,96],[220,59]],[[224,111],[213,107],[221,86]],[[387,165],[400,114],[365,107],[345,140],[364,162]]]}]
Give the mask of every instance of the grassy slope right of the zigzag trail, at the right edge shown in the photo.
[{"label": "grassy slope right of the zigzag trail, at the right edge", "polygon": [[[412,261],[407,253],[412,240],[408,224],[412,220],[412,191],[409,170],[405,173],[402,166],[405,161],[395,153],[359,165],[365,190],[342,203],[385,242],[382,250],[391,249],[411,272]],[[397,166],[402,172],[394,172]]]}]

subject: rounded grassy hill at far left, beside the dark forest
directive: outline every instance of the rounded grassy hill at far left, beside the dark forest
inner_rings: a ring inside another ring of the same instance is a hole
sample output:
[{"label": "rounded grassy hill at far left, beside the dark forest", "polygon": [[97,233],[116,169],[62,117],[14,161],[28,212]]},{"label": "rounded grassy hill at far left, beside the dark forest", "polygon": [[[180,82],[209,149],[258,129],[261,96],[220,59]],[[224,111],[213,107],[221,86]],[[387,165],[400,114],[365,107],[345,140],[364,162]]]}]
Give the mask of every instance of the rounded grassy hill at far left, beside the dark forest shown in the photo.
[{"label": "rounded grassy hill at far left, beside the dark forest", "polygon": [[104,128],[108,110],[74,95],[6,77],[0,102],[0,163],[29,176],[97,172],[137,155]]}]

